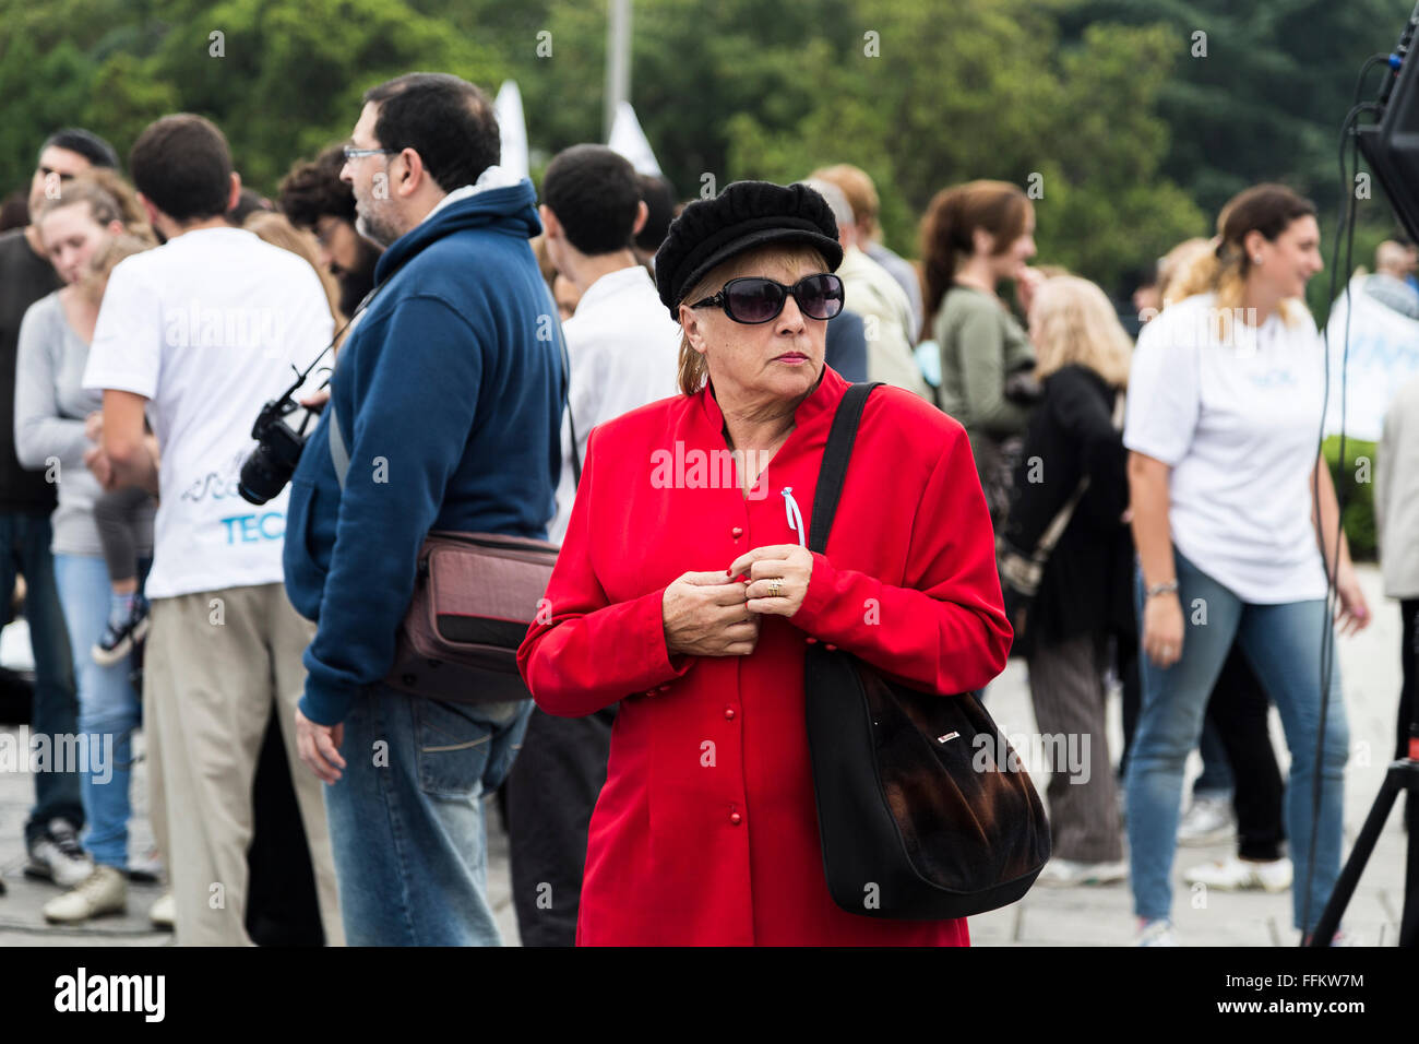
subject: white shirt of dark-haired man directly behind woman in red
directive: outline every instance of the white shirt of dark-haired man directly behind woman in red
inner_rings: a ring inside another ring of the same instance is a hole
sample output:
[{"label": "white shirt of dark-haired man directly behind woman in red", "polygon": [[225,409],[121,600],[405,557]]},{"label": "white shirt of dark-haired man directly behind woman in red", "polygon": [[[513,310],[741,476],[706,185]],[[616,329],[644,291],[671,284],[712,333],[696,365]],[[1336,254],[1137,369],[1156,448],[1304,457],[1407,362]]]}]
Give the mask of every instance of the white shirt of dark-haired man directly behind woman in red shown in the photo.
[{"label": "white shirt of dark-haired man directly behind woman in red", "polygon": [[[603,420],[668,399],[680,391],[680,324],[670,318],[650,274],[639,264],[607,273],[582,294],[562,324],[572,359],[570,410],[576,452],[586,463],[586,440]],[[562,416],[562,479],[548,537],[562,543],[572,518],[572,433]]]}]

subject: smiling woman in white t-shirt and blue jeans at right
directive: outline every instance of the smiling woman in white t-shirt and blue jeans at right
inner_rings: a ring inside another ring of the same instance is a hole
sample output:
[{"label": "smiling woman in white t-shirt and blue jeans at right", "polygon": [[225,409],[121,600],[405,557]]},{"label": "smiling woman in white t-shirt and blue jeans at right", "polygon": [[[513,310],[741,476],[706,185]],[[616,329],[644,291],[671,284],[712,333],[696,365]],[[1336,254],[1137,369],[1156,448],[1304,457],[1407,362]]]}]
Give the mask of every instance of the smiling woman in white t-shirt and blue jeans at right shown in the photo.
[{"label": "smiling woman in white t-shirt and blue jeans at right", "polygon": [[1369,622],[1344,535],[1335,545],[1335,490],[1318,455],[1324,348],[1301,300],[1323,267],[1315,207],[1281,185],[1259,185],[1227,203],[1218,226],[1216,250],[1183,277],[1183,300],[1139,337],[1124,429],[1145,653],[1127,783],[1144,946],[1176,945],[1169,876],[1183,766],[1233,641],[1281,714],[1296,926],[1314,929],[1340,875],[1348,749],[1334,655],[1321,685],[1321,646],[1332,639],[1327,567],[1337,555],[1344,631]]}]

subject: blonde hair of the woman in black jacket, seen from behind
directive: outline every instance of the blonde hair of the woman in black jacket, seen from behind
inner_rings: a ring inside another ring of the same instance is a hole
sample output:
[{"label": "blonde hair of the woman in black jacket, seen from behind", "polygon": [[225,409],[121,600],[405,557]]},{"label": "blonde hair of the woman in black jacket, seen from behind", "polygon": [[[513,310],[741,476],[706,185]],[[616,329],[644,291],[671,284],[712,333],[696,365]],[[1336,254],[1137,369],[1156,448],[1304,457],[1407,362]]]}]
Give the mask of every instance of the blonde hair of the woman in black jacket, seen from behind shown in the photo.
[{"label": "blonde hair of the woman in black jacket, seen from behind", "polygon": [[1037,378],[1078,365],[1114,388],[1127,386],[1134,344],[1097,286],[1078,276],[1044,280],[1034,291],[1030,320]]}]

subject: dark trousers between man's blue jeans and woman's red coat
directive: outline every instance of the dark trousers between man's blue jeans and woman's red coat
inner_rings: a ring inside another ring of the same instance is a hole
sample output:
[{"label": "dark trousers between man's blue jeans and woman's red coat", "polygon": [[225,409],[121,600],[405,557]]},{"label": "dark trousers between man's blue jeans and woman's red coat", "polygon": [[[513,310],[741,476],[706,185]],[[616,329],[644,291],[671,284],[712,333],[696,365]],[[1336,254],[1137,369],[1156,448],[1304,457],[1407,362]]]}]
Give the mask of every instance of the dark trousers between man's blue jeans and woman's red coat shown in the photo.
[{"label": "dark trousers between man's blue jeans and woman's red coat", "polygon": [[586,832],[606,783],[616,707],[555,717],[534,707],[505,785],[512,906],[524,946],[575,946]]}]

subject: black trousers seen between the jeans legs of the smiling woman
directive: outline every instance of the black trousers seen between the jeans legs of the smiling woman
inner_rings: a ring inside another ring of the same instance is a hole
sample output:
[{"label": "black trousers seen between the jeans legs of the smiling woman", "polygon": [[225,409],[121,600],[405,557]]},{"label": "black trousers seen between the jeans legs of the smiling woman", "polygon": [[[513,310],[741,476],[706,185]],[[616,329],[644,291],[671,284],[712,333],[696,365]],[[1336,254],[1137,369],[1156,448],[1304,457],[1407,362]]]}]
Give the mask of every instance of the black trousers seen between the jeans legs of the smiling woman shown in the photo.
[{"label": "black trousers seen between the jeans legs of the smiling woman", "polygon": [[1208,699],[1208,722],[1216,729],[1232,766],[1232,807],[1237,814],[1237,855],[1280,859],[1286,827],[1286,787],[1267,732],[1270,703],[1240,648],[1232,646]]}]

